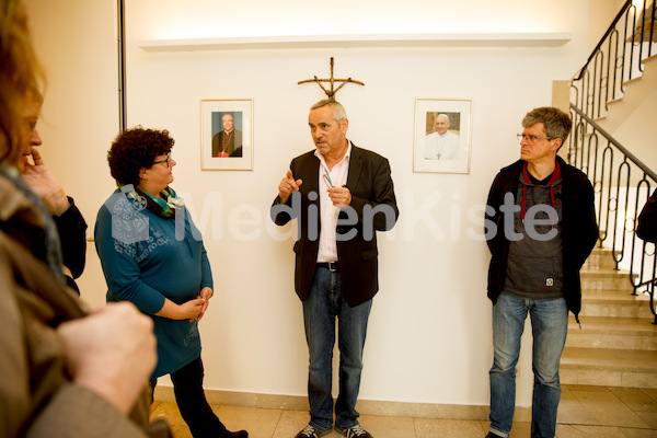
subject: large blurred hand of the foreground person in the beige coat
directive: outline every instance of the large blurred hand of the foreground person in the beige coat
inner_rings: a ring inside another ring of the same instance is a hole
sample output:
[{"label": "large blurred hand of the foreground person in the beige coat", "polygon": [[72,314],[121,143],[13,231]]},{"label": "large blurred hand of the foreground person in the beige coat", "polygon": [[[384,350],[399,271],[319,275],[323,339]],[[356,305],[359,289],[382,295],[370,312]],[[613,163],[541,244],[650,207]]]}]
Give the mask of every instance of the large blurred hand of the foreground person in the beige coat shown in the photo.
[{"label": "large blurred hand of the foreground person in the beige coat", "polygon": [[129,302],[111,303],[57,335],[73,381],[127,414],[158,360],[152,320]]}]

